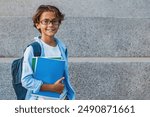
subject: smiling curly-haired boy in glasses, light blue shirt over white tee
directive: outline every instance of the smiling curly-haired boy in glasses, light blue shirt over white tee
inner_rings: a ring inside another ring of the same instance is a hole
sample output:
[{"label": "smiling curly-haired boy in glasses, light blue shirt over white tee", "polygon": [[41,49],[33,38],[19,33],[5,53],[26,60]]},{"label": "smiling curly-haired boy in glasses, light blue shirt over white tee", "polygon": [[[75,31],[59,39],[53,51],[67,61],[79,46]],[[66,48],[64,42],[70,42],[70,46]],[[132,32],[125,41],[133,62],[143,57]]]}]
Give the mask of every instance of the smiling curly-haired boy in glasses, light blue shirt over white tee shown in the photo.
[{"label": "smiling curly-haired boy in glasses, light blue shirt over white tee", "polygon": [[[40,90],[62,93],[64,87],[66,87],[65,90],[67,90],[65,99],[75,99],[75,93],[68,77],[67,48],[59,39],[54,37],[63,19],[64,15],[59,9],[51,5],[39,6],[32,18],[34,27],[41,33],[41,36],[35,37],[35,40],[41,45],[41,57],[57,56],[64,59],[65,74],[64,77],[60,78],[54,84],[44,84],[41,80],[36,80],[32,70],[32,58],[34,57],[33,48],[31,46],[27,47],[24,52],[21,78],[22,85],[28,90],[26,99],[48,99],[41,98],[40,96],[33,96],[31,94],[32,92],[37,93]],[[62,80],[64,81],[64,84],[62,83]]]}]

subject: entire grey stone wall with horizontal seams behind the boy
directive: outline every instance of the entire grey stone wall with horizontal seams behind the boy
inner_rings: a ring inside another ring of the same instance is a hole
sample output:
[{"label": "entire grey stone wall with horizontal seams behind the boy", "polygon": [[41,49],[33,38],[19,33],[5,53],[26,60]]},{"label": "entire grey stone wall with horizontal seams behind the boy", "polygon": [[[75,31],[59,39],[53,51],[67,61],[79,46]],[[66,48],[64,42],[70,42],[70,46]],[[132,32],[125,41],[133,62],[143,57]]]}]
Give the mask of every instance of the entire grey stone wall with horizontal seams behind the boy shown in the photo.
[{"label": "entire grey stone wall with horizontal seams behind the boy", "polygon": [[31,17],[40,4],[65,13],[57,37],[76,99],[150,99],[148,0],[1,0],[0,99],[16,99],[11,62],[38,35]]}]

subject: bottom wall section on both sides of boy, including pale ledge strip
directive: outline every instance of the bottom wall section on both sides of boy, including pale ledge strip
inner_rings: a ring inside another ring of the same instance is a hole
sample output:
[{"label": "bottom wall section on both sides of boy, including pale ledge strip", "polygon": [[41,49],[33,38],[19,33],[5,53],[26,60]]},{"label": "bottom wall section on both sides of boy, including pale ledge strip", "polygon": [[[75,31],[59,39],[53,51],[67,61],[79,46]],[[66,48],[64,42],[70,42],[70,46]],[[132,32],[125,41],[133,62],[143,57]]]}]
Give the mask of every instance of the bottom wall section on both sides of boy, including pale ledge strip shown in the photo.
[{"label": "bottom wall section on both sides of boy, including pale ledge strip", "polygon": [[[10,75],[13,59],[0,59],[0,99],[16,99]],[[76,99],[150,99],[149,59],[70,58],[69,71]]]}]

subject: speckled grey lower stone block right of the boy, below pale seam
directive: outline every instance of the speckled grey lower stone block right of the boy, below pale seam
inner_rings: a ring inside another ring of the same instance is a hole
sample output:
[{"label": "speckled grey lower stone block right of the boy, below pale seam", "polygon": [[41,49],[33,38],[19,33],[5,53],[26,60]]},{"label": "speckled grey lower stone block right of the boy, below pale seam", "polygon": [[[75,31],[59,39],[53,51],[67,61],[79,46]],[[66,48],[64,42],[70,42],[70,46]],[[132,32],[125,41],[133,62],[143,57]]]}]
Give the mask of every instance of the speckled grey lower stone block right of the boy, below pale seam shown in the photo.
[{"label": "speckled grey lower stone block right of the boy, below pale seam", "polygon": [[73,63],[77,99],[150,99],[149,63]]}]

